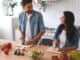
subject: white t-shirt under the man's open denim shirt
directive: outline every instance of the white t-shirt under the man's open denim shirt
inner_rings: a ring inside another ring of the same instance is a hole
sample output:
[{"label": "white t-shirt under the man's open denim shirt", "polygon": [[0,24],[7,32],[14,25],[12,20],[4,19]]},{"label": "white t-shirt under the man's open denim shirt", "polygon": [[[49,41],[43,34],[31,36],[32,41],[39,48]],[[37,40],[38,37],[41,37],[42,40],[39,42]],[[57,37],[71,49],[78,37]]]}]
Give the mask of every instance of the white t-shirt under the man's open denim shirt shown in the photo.
[{"label": "white t-shirt under the man's open denim shirt", "polygon": [[25,41],[30,41],[32,39],[31,36],[31,28],[30,28],[30,18],[31,14],[27,15],[27,24],[26,24],[26,34],[25,34]]}]

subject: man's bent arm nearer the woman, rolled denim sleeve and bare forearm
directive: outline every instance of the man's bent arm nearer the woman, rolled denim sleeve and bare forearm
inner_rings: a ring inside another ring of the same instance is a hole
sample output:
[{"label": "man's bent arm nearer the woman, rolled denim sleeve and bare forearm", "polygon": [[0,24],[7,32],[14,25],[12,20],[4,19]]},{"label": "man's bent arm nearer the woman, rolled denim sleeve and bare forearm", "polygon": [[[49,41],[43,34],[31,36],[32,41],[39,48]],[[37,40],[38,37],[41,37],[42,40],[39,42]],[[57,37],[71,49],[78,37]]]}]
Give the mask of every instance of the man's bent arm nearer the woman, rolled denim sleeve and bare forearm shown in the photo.
[{"label": "man's bent arm nearer the woman, rolled denim sleeve and bare forearm", "polygon": [[38,20],[38,25],[39,25],[39,33],[37,34],[37,36],[35,36],[32,41],[35,42],[37,40],[40,40],[41,36],[45,33],[45,26],[44,26],[44,22],[43,22],[43,16],[42,14],[39,14],[39,20]]}]

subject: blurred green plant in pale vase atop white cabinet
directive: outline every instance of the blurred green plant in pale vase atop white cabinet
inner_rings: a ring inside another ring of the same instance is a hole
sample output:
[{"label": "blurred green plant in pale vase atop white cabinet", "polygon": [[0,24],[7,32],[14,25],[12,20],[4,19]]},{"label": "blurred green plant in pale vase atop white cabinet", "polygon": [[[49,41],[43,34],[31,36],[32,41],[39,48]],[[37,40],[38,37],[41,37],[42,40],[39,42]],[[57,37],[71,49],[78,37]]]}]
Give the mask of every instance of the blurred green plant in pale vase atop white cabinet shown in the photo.
[{"label": "blurred green plant in pale vase atop white cabinet", "polygon": [[17,5],[15,0],[3,0],[2,6],[6,16],[13,16],[14,8]]}]

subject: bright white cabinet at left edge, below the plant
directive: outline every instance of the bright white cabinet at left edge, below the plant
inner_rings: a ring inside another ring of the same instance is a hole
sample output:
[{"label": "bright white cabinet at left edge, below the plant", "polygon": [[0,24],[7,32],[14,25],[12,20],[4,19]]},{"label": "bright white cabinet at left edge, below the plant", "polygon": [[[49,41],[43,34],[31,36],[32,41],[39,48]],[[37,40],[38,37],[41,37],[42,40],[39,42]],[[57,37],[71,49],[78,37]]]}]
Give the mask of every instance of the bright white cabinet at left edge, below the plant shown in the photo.
[{"label": "bright white cabinet at left edge, below the plant", "polygon": [[13,40],[12,17],[0,17],[0,39]]}]

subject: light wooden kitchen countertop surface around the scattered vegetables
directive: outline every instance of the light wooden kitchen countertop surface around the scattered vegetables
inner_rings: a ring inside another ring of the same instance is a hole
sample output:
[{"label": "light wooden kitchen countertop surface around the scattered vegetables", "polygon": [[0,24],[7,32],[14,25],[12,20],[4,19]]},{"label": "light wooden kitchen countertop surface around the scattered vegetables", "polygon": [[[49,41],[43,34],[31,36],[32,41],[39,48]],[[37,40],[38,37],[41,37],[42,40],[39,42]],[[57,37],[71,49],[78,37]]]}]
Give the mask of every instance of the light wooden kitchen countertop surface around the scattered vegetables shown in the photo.
[{"label": "light wooden kitchen countertop surface around the scattered vegetables", "polygon": [[[2,50],[1,46],[3,46],[4,43],[11,42],[12,43],[12,50],[10,51],[9,55],[5,55]],[[58,53],[53,53],[48,51],[49,46],[43,46],[43,45],[35,45],[31,47],[25,48],[25,55],[24,56],[17,56],[14,55],[15,48],[18,46],[17,42],[10,41],[10,40],[0,40],[0,60],[31,60],[31,58],[27,55],[28,53],[32,51],[41,51],[43,53],[41,60],[52,60],[52,56],[60,56]],[[19,45],[19,47],[22,47],[22,45]],[[53,50],[52,51],[56,51]]]}]

